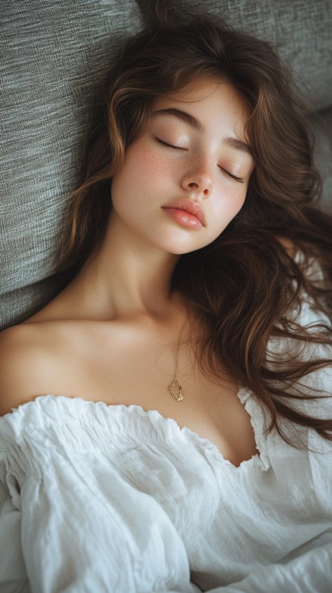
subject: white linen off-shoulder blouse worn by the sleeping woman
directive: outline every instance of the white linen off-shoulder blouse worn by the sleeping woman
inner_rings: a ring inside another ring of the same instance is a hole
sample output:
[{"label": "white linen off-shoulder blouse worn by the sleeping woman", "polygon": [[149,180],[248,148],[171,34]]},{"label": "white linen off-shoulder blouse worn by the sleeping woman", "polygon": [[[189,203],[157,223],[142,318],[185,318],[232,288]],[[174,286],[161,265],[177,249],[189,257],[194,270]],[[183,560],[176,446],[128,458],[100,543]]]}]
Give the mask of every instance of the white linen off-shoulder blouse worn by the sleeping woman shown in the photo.
[{"label": "white linen off-shoulder blouse worn by the sleeping woman", "polygon": [[[304,379],[332,394],[331,367]],[[259,450],[239,467],[138,405],[49,394],[0,418],[1,593],[331,591],[332,445],[301,428],[294,448],[239,399]]]}]

